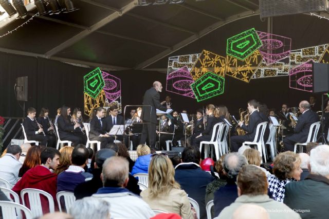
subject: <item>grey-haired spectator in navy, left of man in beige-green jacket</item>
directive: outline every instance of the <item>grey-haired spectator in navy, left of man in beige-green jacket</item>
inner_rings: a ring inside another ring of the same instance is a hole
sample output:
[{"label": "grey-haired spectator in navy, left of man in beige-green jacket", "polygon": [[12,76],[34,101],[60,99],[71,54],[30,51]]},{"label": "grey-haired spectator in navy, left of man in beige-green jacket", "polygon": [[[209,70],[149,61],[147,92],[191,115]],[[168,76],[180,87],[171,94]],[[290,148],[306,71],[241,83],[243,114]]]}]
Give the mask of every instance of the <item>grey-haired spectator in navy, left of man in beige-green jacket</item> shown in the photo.
[{"label": "grey-haired spectator in navy, left of man in beige-green jacket", "polygon": [[218,215],[237,198],[236,176],[243,165],[247,164],[245,156],[239,153],[229,153],[223,161],[224,174],[227,176],[226,185],[214,192],[214,214]]}]

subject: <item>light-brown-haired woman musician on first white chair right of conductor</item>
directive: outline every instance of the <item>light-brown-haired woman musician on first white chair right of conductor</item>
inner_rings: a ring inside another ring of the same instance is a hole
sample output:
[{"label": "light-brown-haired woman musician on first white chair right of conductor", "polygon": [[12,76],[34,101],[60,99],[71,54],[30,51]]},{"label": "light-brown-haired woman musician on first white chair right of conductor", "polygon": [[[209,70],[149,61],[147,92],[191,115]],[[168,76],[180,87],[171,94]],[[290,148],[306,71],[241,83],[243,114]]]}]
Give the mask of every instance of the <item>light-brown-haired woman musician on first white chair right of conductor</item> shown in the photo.
[{"label": "light-brown-haired woman musician on first white chair right of conductor", "polygon": [[192,141],[192,145],[195,147],[199,147],[200,142],[202,141],[210,141],[212,130],[214,128],[214,125],[220,122],[223,122],[223,120],[218,116],[218,109],[215,108],[214,105],[209,104],[206,107],[206,114],[208,115],[207,124],[205,130],[203,130],[199,135],[197,135],[194,140]]}]

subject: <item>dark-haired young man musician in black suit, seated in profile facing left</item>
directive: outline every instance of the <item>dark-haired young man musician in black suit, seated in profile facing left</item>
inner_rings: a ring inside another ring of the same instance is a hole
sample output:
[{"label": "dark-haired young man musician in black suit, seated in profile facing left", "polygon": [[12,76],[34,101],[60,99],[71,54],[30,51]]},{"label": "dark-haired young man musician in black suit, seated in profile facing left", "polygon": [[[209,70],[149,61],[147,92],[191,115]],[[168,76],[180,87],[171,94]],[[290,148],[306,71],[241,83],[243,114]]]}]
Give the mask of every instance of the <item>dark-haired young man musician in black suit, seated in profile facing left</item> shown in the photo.
[{"label": "dark-haired young man musician in black suit, seated in profile facing left", "polygon": [[249,111],[249,124],[245,125],[244,121],[239,122],[239,126],[247,131],[246,135],[235,135],[231,137],[231,151],[237,152],[242,146],[242,143],[246,141],[253,141],[256,134],[257,125],[262,123],[262,118],[257,111],[258,102],[252,99],[248,101],[248,111]]}]

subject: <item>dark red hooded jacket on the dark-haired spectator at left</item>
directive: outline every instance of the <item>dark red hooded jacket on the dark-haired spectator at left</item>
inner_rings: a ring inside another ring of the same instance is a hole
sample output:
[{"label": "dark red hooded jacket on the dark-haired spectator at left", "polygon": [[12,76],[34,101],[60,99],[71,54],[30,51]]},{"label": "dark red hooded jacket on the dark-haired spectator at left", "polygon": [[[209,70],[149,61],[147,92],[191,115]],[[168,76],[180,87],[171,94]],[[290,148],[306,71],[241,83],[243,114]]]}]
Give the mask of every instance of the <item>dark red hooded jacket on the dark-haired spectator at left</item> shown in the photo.
[{"label": "dark red hooded jacket on the dark-haired spectator at left", "polygon": [[[57,190],[57,174],[50,172],[47,167],[38,165],[34,168],[29,169],[22,177],[22,179],[16,183],[16,185],[12,188],[14,192],[16,192],[20,198],[21,191],[23,189],[40,189],[45,192],[48,192],[54,200],[55,210],[58,210],[58,205],[56,201],[56,190]],[[49,204],[46,197],[43,195],[40,196],[42,211],[43,214],[49,212]],[[25,195],[24,201],[26,206],[29,208],[28,197]]]}]

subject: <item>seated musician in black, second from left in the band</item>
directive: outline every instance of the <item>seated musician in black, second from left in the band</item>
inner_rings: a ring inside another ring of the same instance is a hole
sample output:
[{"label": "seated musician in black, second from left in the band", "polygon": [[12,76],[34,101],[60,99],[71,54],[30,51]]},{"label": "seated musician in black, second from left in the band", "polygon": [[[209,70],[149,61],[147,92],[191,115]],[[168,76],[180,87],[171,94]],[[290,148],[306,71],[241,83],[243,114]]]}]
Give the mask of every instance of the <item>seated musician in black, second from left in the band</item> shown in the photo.
[{"label": "seated musician in black, second from left in the band", "polygon": [[43,131],[45,132],[46,136],[49,138],[49,142],[47,147],[56,147],[56,135],[54,132],[56,132],[55,128],[53,126],[50,126],[51,121],[48,117],[49,110],[46,107],[42,107],[40,110],[39,117],[36,118],[36,121],[41,125]]}]

